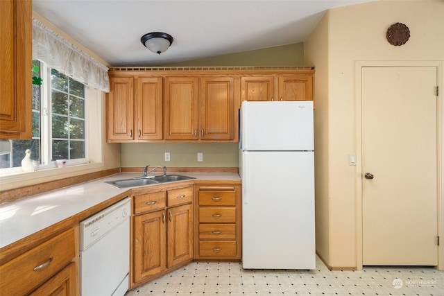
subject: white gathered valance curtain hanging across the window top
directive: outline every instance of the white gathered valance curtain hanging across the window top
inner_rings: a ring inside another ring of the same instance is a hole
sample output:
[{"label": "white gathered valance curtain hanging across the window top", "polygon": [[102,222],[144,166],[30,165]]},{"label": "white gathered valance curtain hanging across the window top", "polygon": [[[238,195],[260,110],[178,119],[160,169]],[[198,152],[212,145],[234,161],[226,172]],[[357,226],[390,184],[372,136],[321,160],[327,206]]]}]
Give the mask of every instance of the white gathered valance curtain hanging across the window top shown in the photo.
[{"label": "white gathered valance curtain hanging across the window top", "polygon": [[37,19],[33,19],[33,59],[85,83],[110,92],[108,67],[94,60]]}]

